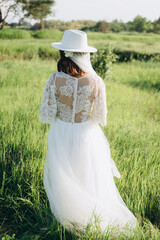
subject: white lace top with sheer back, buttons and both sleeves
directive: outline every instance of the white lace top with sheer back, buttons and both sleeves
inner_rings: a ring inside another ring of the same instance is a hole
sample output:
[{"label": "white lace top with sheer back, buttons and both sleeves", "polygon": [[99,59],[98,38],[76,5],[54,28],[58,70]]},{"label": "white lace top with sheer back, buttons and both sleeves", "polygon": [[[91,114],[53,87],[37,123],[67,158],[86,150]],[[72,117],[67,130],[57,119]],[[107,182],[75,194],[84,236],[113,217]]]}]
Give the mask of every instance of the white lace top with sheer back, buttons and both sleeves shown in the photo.
[{"label": "white lace top with sheer back, buttons and both sleeves", "polygon": [[42,123],[51,124],[57,117],[71,123],[92,119],[105,126],[105,84],[91,74],[76,78],[63,72],[52,73],[44,88],[40,112]]}]

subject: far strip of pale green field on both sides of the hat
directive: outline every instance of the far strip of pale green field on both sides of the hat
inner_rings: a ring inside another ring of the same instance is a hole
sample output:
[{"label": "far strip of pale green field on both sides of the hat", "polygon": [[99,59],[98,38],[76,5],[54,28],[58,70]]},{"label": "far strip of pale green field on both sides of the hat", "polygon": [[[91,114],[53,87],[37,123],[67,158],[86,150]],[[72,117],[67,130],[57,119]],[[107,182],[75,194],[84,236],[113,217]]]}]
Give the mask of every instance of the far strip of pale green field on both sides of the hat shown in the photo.
[{"label": "far strip of pale green field on both sides of the hat", "polygon": [[[57,59],[58,51],[50,45],[61,41],[63,32],[43,30],[26,31],[4,29],[0,31],[0,60],[7,59]],[[120,51],[135,51],[143,54],[160,53],[160,35],[147,33],[95,33],[88,32],[88,43],[96,48],[108,47]]]}]

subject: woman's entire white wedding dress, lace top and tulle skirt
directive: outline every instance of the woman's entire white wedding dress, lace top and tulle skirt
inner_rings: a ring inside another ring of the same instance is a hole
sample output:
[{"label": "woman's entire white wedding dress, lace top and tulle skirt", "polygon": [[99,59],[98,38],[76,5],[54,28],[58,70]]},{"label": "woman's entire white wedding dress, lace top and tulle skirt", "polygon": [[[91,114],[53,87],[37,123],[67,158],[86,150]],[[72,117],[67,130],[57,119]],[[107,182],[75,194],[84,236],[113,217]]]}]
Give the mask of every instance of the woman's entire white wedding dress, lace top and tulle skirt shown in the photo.
[{"label": "woman's entire white wedding dress, lace top and tulle skirt", "polygon": [[93,213],[102,230],[116,224],[136,226],[113,177],[120,177],[101,130],[106,125],[105,84],[99,76],[81,78],[55,72],[41,103],[41,122],[51,124],[44,165],[50,208],[67,229],[87,226]]}]

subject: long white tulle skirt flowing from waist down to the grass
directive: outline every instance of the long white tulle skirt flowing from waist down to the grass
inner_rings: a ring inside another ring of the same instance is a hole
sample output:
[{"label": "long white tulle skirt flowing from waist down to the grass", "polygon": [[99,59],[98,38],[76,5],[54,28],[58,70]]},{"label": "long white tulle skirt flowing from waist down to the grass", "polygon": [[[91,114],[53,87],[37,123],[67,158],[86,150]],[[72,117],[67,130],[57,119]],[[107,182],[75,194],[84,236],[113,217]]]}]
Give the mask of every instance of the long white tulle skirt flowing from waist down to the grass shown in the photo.
[{"label": "long white tulle skirt flowing from waist down to the grass", "polygon": [[66,229],[71,230],[72,223],[87,226],[93,214],[100,217],[102,230],[136,226],[113,176],[120,173],[98,124],[55,119],[48,136],[44,186],[52,213]]}]

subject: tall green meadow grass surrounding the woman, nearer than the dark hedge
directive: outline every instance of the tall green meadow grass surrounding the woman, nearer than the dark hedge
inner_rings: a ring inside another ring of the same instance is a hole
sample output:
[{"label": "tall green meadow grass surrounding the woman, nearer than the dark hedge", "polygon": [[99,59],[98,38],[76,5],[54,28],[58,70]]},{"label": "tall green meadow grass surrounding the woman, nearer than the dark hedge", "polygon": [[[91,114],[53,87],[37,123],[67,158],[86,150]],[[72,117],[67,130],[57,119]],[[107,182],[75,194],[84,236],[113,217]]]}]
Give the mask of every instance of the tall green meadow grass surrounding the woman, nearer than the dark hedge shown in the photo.
[{"label": "tall green meadow grass surrounding the woman, nearer than the dark hedge", "polygon": [[[113,239],[97,228],[79,238],[52,216],[43,187],[49,125],[40,123],[40,104],[54,61],[6,60],[0,65],[0,236],[28,239]],[[160,239],[160,63],[113,65],[106,81],[108,125],[103,131],[121,172],[115,179],[139,228],[132,238]],[[9,240],[9,237],[5,237]]]}]

